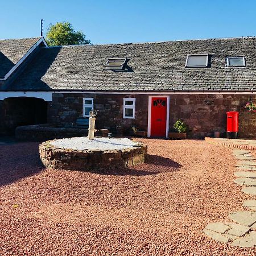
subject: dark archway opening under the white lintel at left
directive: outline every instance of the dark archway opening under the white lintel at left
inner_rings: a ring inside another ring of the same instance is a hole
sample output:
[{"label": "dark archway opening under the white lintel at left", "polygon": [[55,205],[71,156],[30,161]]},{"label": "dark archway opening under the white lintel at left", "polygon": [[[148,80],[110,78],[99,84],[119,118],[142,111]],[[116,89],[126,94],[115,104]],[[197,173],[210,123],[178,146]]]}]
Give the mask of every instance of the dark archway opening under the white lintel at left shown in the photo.
[{"label": "dark archway opening under the white lintel at left", "polygon": [[9,133],[13,133],[18,126],[47,123],[47,101],[41,98],[6,98],[4,106],[5,126]]}]

